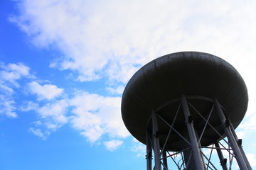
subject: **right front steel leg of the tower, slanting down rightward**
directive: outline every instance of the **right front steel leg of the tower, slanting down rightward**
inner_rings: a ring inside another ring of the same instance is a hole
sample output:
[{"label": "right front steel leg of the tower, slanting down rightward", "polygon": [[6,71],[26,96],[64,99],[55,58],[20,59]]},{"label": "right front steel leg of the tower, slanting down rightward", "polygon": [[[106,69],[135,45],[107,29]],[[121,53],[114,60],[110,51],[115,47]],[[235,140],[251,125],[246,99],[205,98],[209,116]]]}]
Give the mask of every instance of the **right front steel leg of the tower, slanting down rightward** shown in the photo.
[{"label": "right front steel leg of the tower, slanting down rightward", "polygon": [[234,149],[235,158],[238,162],[238,166],[242,170],[247,170],[248,168],[247,168],[247,165],[245,164],[244,158],[242,157],[242,153],[240,152],[238,143],[235,140],[235,137],[233,136],[232,131],[230,130],[229,121],[227,120],[227,118],[225,118],[225,115],[224,115],[222,109],[220,108],[220,103],[218,103],[218,100],[216,98],[214,99],[214,104],[215,104],[218,116],[220,118],[220,121],[223,124],[223,129],[224,129],[225,135],[227,135],[227,137],[228,137],[228,142],[230,143],[230,146],[232,147],[232,149]]}]

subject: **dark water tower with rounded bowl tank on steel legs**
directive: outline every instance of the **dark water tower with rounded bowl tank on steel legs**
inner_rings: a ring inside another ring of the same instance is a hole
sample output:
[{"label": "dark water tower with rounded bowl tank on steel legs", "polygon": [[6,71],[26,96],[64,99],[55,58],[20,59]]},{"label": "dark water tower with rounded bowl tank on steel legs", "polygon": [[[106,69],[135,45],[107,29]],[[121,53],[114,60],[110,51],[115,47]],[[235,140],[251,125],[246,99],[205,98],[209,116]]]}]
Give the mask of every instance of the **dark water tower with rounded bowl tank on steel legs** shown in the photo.
[{"label": "dark water tower with rounded bowl tank on steel legs", "polygon": [[170,164],[218,169],[213,152],[221,169],[232,169],[235,162],[246,170],[252,167],[234,129],[247,103],[245,82],[228,62],[203,52],[177,52],[149,62],[129,80],[122,119],[146,145],[147,170]]}]

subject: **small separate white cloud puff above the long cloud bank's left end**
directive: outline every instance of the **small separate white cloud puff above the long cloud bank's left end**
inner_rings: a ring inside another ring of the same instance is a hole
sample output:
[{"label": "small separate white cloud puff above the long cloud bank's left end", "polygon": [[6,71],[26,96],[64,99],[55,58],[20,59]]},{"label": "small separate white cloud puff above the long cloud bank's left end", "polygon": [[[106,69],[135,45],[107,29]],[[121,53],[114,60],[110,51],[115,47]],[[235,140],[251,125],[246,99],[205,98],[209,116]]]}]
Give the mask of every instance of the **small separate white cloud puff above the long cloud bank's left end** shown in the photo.
[{"label": "small separate white cloud puff above the long cloud bank's left end", "polygon": [[63,93],[63,89],[58,88],[53,84],[40,85],[36,81],[32,81],[27,84],[31,94],[36,94],[38,100],[51,100]]}]

